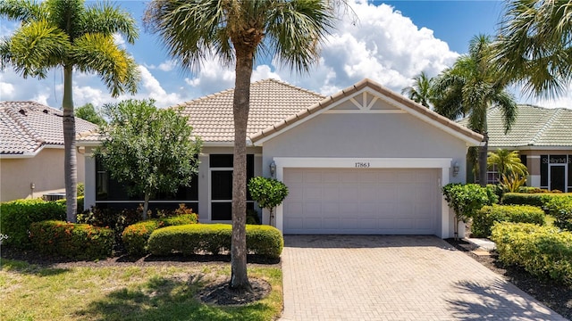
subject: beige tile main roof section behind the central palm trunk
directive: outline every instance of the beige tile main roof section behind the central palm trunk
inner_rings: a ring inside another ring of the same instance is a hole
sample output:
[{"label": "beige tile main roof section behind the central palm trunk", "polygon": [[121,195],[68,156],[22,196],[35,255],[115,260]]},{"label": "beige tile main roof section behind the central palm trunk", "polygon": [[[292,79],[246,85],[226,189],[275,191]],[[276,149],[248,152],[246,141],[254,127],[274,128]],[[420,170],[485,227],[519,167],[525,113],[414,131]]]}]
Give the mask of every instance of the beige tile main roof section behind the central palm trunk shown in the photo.
[{"label": "beige tile main roof section behind the central palm trunk", "polygon": [[[171,108],[183,108],[181,113],[189,116],[189,125],[194,128],[193,134],[200,136],[203,141],[232,143],[234,141],[233,95],[234,90],[228,89]],[[322,100],[324,100],[323,95],[275,79],[252,83],[247,136],[253,136]]]}]

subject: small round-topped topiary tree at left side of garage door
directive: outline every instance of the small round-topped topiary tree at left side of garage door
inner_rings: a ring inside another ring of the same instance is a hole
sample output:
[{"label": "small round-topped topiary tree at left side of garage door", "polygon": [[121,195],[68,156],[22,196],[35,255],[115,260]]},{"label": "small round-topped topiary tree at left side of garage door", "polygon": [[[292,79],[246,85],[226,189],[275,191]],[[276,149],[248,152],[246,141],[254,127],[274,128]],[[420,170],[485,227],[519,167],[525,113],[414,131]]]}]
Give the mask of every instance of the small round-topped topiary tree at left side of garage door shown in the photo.
[{"label": "small round-topped topiary tree at left side of garage door", "polygon": [[270,210],[270,225],[272,225],[273,209],[282,204],[288,196],[288,187],[274,178],[252,177],[248,182],[248,192],[258,206]]}]

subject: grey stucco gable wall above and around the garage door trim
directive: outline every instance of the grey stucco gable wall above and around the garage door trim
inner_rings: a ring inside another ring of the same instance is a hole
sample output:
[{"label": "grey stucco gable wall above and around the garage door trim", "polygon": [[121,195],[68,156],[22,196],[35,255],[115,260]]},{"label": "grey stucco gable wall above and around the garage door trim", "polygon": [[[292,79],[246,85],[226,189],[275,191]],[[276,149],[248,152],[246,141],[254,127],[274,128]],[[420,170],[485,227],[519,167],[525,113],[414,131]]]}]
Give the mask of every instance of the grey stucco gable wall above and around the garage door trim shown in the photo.
[{"label": "grey stucco gable wall above and around the garage door trim", "polygon": [[467,145],[408,114],[323,114],[264,143],[263,169],[273,157],[452,158],[451,182],[465,181]]}]

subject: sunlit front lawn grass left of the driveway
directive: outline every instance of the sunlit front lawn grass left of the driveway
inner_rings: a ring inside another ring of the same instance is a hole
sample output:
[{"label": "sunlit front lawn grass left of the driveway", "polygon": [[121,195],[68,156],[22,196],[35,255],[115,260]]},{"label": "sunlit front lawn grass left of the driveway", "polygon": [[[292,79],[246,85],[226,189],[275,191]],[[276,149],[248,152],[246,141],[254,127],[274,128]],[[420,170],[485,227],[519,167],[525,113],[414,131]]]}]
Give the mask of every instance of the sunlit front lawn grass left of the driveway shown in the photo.
[{"label": "sunlit front lawn grass left of the driveway", "polygon": [[273,320],[282,312],[282,271],[249,268],[272,292],[241,307],[218,307],[195,298],[227,266],[40,268],[2,259],[0,320]]}]

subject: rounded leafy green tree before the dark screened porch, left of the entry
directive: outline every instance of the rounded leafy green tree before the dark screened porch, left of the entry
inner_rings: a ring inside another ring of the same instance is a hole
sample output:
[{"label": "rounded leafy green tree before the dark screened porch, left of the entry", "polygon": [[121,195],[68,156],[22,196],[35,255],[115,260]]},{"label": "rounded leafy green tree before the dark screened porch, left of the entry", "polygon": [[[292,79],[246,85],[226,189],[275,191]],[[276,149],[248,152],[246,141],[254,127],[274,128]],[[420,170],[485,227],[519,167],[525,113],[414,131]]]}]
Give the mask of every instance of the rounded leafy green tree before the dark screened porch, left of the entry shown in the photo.
[{"label": "rounded leafy green tree before the dark screened porch, left of the entry", "polygon": [[172,109],[157,109],[153,100],[105,105],[109,125],[96,155],[130,195],[143,194],[143,219],[156,193],[176,193],[198,172],[202,142],[192,136],[187,118]]}]

